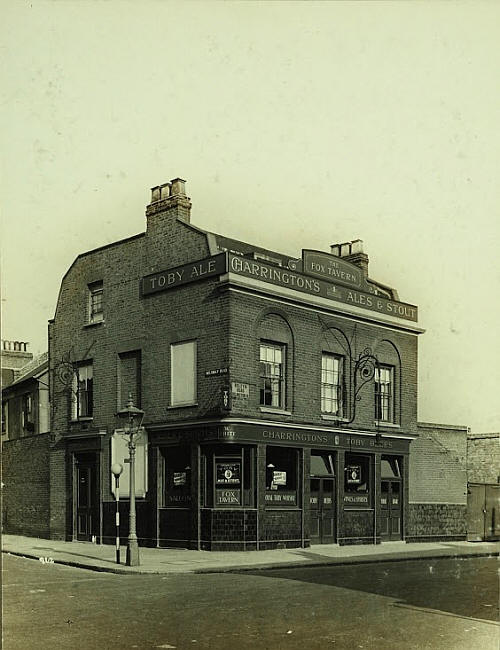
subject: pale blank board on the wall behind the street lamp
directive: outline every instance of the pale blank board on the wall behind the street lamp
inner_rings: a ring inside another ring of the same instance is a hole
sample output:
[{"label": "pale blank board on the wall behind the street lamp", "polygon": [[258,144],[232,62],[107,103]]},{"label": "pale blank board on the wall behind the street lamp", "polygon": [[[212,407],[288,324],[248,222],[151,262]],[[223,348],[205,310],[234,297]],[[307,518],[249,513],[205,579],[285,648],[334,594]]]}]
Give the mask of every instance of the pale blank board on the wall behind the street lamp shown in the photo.
[{"label": "pale blank board on the wall behind the street lamp", "polygon": [[[135,496],[143,499],[148,491],[148,434],[142,429],[141,435],[136,438],[135,450]],[[115,480],[111,473],[111,465],[120,463],[123,472],[120,476],[120,498],[128,498],[130,495],[130,452],[128,449],[128,437],[117,429],[111,436],[111,463],[109,465],[109,476],[111,491],[115,494]]]}]

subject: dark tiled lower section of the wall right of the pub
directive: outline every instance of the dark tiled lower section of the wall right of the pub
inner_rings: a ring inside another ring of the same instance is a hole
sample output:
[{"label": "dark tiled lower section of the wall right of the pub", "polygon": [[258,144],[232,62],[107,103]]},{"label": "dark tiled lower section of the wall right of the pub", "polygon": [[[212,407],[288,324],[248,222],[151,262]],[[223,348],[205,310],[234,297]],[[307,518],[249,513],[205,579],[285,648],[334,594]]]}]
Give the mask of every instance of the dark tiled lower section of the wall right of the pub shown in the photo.
[{"label": "dark tiled lower section of the wall right of the pub", "polygon": [[410,503],[406,541],[457,541],[467,535],[467,506],[447,503]]}]

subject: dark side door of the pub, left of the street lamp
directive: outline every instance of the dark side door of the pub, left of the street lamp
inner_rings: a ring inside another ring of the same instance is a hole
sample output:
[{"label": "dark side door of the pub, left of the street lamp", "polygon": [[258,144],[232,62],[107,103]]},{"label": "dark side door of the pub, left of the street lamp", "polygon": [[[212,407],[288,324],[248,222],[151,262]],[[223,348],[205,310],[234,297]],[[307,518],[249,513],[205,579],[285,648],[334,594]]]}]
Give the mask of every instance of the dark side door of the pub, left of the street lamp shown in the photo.
[{"label": "dark side door of the pub, left of the street lamp", "polygon": [[96,541],[99,534],[99,499],[95,454],[75,454],[75,482],[76,539],[80,542]]}]

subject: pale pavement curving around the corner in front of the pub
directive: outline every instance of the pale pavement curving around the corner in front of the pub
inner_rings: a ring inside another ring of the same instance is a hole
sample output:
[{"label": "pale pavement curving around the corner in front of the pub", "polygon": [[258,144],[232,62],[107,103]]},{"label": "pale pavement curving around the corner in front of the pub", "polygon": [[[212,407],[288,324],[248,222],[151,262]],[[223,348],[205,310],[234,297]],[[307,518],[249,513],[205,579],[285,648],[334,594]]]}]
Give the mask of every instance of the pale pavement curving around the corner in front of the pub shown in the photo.
[{"label": "pale pavement curving around the corner in front of the pub", "polygon": [[93,571],[124,574],[221,573],[332,566],[369,562],[398,562],[438,558],[498,557],[500,542],[383,542],[377,545],[321,544],[310,548],[265,551],[192,551],[140,547],[140,565],[116,563],[115,547],[91,542],[63,542],[20,535],[2,535],[2,552]]}]

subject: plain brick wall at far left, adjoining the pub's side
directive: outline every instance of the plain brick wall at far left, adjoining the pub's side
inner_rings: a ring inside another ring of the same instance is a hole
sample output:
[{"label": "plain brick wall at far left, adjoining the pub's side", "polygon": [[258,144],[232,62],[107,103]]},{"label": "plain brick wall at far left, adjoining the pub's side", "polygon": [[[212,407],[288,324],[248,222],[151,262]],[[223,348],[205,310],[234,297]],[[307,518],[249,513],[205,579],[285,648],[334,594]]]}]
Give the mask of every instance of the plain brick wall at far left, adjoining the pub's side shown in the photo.
[{"label": "plain brick wall at far left, adjoining the pub's side", "polygon": [[49,434],[2,444],[2,531],[49,537]]}]

